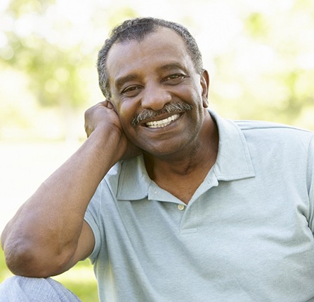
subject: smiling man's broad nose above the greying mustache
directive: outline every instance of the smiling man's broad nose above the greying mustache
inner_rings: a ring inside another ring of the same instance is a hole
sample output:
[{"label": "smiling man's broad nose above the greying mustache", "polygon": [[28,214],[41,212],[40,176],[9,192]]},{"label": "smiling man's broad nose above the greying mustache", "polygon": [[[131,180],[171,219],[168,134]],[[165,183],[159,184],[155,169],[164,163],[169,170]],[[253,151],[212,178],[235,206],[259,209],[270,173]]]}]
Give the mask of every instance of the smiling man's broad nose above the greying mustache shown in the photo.
[{"label": "smiling man's broad nose above the greying mustache", "polygon": [[171,94],[161,83],[150,83],[145,85],[141,105],[145,109],[160,110],[166,103],[171,101]]}]

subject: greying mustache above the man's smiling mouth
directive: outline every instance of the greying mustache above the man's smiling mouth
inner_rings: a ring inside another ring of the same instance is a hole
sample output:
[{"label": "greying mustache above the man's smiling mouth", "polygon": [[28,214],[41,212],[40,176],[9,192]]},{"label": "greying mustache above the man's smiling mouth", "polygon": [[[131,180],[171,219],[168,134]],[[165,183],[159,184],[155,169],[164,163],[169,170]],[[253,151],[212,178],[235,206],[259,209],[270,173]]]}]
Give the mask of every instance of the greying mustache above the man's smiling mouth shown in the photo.
[{"label": "greying mustache above the man's smiling mouth", "polygon": [[185,102],[175,102],[175,103],[167,103],[164,105],[164,107],[160,110],[152,110],[152,109],[144,109],[143,111],[140,111],[139,114],[136,114],[136,116],[132,120],[132,126],[136,126],[142,121],[147,120],[148,118],[157,118],[157,116],[160,116],[162,114],[173,114],[178,113],[182,111],[189,111],[192,110],[193,107],[190,104],[187,104]]}]

